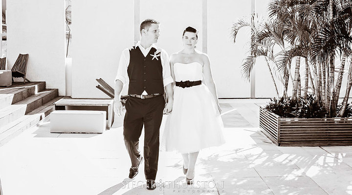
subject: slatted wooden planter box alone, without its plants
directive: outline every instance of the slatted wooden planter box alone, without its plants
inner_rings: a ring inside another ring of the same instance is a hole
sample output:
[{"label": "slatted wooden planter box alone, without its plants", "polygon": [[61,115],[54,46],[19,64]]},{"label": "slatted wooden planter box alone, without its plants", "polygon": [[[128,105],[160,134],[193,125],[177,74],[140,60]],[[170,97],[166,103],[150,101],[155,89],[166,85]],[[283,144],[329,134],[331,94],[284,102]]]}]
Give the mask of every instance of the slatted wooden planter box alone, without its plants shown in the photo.
[{"label": "slatted wooden planter box alone, without its plants", "polygon": [[260,108],[259,124],[278,146],[352,145],[352,117],[282,118]]}]

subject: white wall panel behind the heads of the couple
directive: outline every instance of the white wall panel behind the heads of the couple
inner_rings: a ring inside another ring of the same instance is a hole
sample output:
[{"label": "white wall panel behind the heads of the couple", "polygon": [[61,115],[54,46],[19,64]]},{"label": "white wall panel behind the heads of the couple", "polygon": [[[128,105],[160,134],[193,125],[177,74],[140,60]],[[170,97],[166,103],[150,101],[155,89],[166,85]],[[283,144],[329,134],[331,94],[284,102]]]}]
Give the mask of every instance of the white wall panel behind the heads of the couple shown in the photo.
[{"label": "white wall panel behind the heads of the couple", "polygon": [[182,33],[192,26],[198,32],[197,49],[202,50],[201,0],[141,0],[140,22],[152,18],[160,21],[160,39],[157,45],[169,56],[182,49]]}]

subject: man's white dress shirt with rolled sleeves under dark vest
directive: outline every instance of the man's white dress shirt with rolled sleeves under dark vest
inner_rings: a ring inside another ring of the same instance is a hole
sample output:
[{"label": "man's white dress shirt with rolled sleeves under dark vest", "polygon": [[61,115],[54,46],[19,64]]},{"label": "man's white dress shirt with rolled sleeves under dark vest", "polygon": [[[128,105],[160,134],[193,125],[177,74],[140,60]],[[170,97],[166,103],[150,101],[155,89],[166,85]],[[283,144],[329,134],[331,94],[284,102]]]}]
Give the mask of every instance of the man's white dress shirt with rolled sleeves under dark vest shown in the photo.
[{"label": "man's white dress shirt with rolled sleeves under dark vest", "polygon": [[[157,48],[154,44],[152,44],[150,47],[144,49],[144,47],[141,46],[140,41],[138,41],[135,45],[135,47],[139,47],[141,52],[143,53],[144,57],[148,55],[152,47],[154,47],[157,51],[160,50],[160,59],[161,59],[161,66],[162,66],[162,75],[163,75],[163,83],[164,87],[172,82],[174,82],[174,79],[171,77],[170,74],[170,61],[169,61],[169,55],[166,53],[165,50],[161,48]],[[130,49],[127,48],[122,51],[121,57],[120,57],[120,62],[119,62],[119,67],[117,69],[117,75],[115,78],[116,80],[121,80],[123,85],[126,85],[127,82],[130,80],[128,77],[127,73],[127,68],[130,64]],[[147,92],[144,90],[144,92],[141,95],[148,95]]]}]

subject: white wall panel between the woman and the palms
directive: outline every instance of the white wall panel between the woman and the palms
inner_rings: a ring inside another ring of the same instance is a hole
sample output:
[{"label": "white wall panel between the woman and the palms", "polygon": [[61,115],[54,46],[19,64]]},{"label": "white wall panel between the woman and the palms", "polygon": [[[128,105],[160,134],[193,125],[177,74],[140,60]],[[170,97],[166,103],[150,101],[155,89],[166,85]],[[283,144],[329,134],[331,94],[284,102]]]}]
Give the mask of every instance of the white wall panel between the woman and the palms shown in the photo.
[{"label": "white wall panel between the woman and the palms", "polygon": [[250,0],[208,0],[208,55],[219,98],[250,97],[250,83],[242,79],[240,67],[249,37],[245,29],[236,44],[230,37],[232,23],[248,16],[250,8]]}]

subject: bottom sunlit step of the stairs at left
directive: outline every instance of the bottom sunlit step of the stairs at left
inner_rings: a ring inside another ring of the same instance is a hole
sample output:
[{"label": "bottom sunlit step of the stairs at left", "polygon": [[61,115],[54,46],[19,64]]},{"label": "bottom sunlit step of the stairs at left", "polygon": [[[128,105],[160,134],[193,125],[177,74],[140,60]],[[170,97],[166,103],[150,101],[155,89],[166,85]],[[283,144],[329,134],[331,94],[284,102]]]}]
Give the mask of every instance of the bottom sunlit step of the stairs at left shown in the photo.
[{"label": "bottom sunlit step of the stairs at left", "polygon": [[37,124],[42,117],[43,116],[41,116],[41,114],[25,115],[1,127],[0,128],[0,146],[4,145],[12,138],[18,136],[26,129],[29,129],[30,127]]}]

